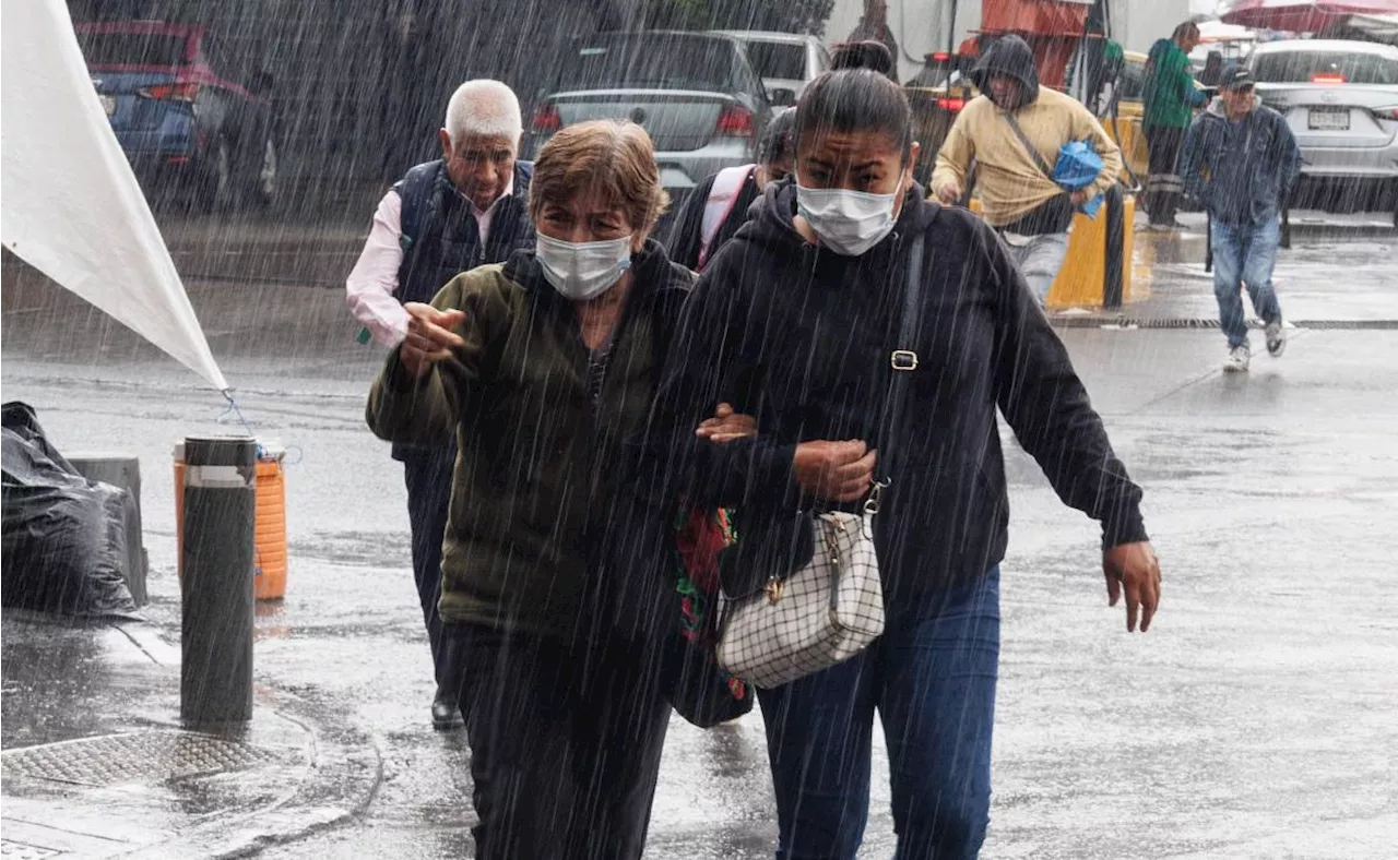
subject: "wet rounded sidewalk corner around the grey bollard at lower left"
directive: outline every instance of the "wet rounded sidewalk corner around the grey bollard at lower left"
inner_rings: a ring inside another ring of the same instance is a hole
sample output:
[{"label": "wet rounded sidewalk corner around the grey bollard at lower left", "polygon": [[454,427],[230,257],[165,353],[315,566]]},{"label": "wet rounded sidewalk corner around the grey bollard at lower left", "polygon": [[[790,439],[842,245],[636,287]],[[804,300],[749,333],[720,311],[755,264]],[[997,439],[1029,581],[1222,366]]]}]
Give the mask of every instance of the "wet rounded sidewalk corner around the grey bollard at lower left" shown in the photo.
[{"label": "wet rounded sidewalk corner around the grey bollard at lower left", "polygon": [[151,624],[0,610],[0,859],[232,857],[370,800],[373,744],[259,687],[246,729],[179,725],[179,646]]}]

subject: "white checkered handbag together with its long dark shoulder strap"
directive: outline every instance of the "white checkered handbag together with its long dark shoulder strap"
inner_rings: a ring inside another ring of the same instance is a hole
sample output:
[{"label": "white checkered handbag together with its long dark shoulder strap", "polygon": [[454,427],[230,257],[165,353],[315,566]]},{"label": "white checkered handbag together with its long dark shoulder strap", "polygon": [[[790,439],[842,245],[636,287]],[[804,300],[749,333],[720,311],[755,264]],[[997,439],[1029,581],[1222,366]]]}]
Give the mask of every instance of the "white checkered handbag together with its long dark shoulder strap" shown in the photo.
[{"label": "white checkered handbag together with its long dark shoulder strap", "polygon": [[[921,320],[923,236],[909,251],[907,286],[899,325],[902,349],[889,356],[888,396],[879,422],[878,469],[864,514],[832,511],[812,519],[811,561],[773,575],[756,595],[730,600],[714,656],[730,674],[772,688],[829,669],[868,648],[884,634],[884,584],[874,550],[879,493],[892,483],[902,445],[903,402],[917,370]],[[740,538],[741,540],[741,538]]]}]

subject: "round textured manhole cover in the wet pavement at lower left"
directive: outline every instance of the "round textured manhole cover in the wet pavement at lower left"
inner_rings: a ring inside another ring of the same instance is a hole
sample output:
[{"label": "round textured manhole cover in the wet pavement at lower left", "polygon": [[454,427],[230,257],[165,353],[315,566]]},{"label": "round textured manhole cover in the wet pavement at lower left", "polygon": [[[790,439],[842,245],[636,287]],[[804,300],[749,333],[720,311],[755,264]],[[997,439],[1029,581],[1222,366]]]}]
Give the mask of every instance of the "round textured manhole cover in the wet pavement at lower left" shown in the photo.
[{"label": "round textured manhole cover in the wet pavement at lower left", "polygon": [[136,732],[8,750],[0,752],[0,773],[112,786],[243,771],[273,761],[266,750],[208,734]]}]

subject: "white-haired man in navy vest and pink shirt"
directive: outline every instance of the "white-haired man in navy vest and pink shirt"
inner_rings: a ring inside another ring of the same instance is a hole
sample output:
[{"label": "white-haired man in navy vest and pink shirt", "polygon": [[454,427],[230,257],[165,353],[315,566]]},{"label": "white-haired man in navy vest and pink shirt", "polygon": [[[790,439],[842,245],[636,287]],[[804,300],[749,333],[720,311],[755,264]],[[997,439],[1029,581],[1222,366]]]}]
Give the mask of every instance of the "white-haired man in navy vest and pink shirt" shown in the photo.
[{"label": "white-haired man in navy vest and pink shirt", "polygon": [[[459,272],[505,262],[534,247],[528,215],[533,165],[517,161],[523,120],[514,92],[499,81],[467,81],[452,95],[442,158],[408,170],[379,201],[369,239],[345,281],[361,339],[397,346],[408,328],[408,302],[431,302]],[[396,444],[412,526],[412,572],[432,646],[438,691],[432,725],[459,723],[459,670],[442,638],[438,598],[442,536],[456,445]]]}]

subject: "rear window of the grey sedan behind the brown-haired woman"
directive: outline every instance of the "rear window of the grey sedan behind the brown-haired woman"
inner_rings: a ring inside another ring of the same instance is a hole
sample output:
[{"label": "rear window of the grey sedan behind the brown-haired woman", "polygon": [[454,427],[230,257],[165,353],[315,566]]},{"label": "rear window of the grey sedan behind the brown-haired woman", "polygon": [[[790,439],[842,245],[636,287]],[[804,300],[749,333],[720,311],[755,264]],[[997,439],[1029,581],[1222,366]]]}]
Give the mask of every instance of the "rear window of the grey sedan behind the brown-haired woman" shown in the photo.
[{"label": "rear window of the grey sedan behind the brown-haired woman", "polygon": [[723,39],[684,35],[594,38],[573,43],[559,85],[573,89],[731,89],[734,52]]}]

